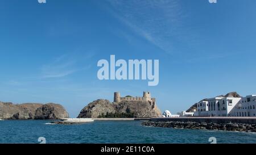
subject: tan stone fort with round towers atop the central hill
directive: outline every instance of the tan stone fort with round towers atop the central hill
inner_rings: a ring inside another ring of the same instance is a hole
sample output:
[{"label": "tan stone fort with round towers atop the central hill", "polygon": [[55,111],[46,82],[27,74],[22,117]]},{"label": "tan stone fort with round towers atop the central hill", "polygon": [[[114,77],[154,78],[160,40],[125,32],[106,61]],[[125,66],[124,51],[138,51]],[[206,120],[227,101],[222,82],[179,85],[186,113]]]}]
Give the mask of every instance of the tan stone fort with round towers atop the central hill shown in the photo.
[{"label": "tan stone fort with round towers atop the central hill", "polygon": [[148,91],[143,92],[143,97],[121,97],[119,92],[114,93],[114,102],[119,103],[122,101],[141,101],[141,102],[148,102],[150,103],[152,109],[155,108],[155,98],[151,98],[151,94]]}]

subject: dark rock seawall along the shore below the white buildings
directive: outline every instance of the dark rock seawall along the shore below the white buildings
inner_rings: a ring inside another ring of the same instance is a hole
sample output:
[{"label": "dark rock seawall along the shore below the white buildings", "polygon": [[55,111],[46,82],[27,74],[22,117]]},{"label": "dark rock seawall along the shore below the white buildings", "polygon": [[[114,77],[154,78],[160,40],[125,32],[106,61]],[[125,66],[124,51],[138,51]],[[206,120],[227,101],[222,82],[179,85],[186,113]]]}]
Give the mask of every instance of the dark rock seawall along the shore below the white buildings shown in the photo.
[{"label": "dark rock seawall along the shore below the white buildings", "polygon": [[143,122],[142,125],[148,127],[163,127],[163,128],[181,128],[181,129],[205,129],[205,130],[221,130],[221,131],[243,131],[256,132],[255,124],[245,123],[197,123],[197,122],[159,122],[149,121]]}]

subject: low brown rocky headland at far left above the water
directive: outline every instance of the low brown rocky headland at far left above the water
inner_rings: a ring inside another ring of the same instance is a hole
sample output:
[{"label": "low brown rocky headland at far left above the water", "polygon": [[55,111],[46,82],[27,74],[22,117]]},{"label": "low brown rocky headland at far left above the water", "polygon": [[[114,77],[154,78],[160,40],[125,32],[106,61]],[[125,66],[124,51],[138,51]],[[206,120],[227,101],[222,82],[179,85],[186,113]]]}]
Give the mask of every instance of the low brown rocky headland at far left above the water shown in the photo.
[{"label": "low brown rocky headland at far left above the water", "polygon": [[0,102],[0,119],[60,119],[69,118],[68,112],[60,104]]}]

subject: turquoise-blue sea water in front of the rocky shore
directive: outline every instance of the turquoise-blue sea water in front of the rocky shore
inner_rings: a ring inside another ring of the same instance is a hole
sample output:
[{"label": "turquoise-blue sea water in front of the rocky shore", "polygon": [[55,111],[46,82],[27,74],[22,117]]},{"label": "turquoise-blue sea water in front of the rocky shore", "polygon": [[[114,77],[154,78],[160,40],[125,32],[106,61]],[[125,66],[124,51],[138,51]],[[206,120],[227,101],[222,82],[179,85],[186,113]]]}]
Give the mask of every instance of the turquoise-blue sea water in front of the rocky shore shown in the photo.
[{"label": "turquoise-blue sea water in front of the rocky shore", "polygon": [[49,120],[0,121],[0,143],[256,143],[256,133],[143,127],[140,121],[95,121],[79,125]]}]

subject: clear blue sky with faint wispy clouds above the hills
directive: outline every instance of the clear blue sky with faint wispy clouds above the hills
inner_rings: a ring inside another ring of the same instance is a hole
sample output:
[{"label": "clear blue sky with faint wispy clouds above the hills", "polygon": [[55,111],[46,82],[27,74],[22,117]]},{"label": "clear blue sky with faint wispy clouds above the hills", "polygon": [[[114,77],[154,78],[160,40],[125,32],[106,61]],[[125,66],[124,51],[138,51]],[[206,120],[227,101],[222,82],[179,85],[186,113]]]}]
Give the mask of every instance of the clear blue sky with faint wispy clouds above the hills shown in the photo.
[{"label": "clear blue sky with faint wispy clouds above the hills", "polygon": [[[60,103],[150,91],[163,112],[256,94],[256,1],[1,0],[0,100]],[[159,84],[99,80],[98,60],[159,60]]]}]

